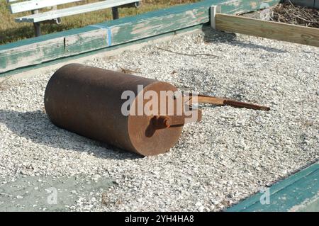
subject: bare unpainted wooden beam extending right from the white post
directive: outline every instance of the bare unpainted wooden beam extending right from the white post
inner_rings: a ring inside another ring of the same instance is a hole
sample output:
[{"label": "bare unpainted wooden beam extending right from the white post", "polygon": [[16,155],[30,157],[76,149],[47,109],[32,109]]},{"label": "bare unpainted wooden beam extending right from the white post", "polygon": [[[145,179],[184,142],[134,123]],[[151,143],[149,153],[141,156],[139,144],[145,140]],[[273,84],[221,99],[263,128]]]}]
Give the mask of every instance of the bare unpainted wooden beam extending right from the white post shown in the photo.
[{"label": "bare unpainted wooden beam extending right from the white post", "polygon": [[319,29],[216,13],[216,30],[319,47]]}]

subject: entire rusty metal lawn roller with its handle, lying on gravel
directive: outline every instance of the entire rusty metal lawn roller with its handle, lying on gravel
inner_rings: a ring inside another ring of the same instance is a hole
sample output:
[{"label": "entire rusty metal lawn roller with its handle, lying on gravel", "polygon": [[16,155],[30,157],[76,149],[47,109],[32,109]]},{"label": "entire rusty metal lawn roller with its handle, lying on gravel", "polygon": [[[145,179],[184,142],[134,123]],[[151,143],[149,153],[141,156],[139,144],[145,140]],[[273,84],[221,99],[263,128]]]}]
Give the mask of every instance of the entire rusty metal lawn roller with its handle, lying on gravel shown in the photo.
[{"label": "entire rusty metal lawn roller with its handle, lying on gravel", "polygon": [[[162,91],[172,95],[162,95]],[[123,98],[125,92],[130,94],[127,95],[131,97],[130,102]],[[152,95],[145,98],[147,93]],[[184,123],[201,120],[201,111],[191,108],[193,103],[269,110],[225,98],[177,93],[177,88],[167,82],[82,64],[67,64],[58,69],[47,84],[45,111],[52,123],[60,128],[149,156],[173,147]],[[154,98],[155,94],[157,98]],[[150,103],[151,97],[156,103],[147,108],[150,111],[147,113],[143,107]],[[184,106],[190,106],[187,114]],[[155,108],[157,111],[153,111]],[[127,112],[123,113],[123,109]]]}]

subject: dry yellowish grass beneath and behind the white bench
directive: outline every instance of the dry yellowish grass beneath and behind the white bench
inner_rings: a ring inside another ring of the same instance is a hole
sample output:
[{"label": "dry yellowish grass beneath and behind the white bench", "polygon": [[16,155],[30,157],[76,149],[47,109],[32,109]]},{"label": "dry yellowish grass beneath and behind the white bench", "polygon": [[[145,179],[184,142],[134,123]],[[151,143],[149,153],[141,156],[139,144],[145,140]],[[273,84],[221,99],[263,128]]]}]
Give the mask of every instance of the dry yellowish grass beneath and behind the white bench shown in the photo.
[{"label": "dry yellowish grass beneath and behind the white bench", "polygon": [[[91,3],[94,1],[97,0],[84,0],[80,3],[65,4],[62,6],[58,6],[58,9],[62,9],[63,7],[75,6],[79,4]],[[198,0],[144,0],[142,1],[142,6],[140,6],[139,9],[120,9],[120,16],[134,16],[148,11],[155,11],[158,9],[167,8],[175,4],[187,4],[195,1]],[[16,23],[14,21],[14,18],[28,14],[30,14],[30,12],[11,14],[11,12],[9,11],[9,4],[6,3],[6,0],[0,0],[0,45],[3,45],[5,43],[11,43],[16,40],[31,38],[34,36],[32,23]],[[58,31],[68,30],[71,28],[81,28],[84,26],[88,26],[90,24],[101,23],[103,21],[108,21],[111,19],[111,9],[68,16],[62,18],[61,25],[43,24],[42,33],[55,33]]]}]

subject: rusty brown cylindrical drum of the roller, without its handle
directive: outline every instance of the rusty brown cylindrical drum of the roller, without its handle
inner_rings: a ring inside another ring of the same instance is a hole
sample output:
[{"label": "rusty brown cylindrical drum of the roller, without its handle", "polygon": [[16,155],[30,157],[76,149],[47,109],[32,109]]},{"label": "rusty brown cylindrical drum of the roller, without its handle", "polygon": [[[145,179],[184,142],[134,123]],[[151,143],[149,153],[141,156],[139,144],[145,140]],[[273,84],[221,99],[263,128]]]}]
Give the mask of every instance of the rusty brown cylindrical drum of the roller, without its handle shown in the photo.
[{"label": "rusty brown cylindrical drum of the roller, without its handle", "polygon": [[[143,156],[167,152],[182,125],[157,130],[152,115],[123,115],[124,91],[177,91],[172,84],[82,64],[67,64],[52,75],[45,89],[45,111],[52,123],[79,135]],[[136,98],[135,100],[136,101]]]}]

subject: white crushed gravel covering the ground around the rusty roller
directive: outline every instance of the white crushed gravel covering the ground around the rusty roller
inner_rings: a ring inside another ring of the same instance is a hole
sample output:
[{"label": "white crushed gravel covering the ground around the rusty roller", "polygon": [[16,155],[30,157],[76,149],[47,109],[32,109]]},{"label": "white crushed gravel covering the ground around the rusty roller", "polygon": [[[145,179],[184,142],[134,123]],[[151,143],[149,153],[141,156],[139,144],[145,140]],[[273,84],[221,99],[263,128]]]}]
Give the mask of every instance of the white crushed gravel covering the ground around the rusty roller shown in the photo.
[{"label": "white crushed gravel covering the ground around the rusty roller", "polygon": [[157,46],[218,58],[147,46],[86,64],[131,69],[181,90],[272,110],[202,106],[202,122],[186,125],[170,152],[140,158],[52,125],[43,95],[53,71],[10,79],[0,88],[2,180],[82,175],[114,181],[68,210],[217,211],[318,161],[318,47],[208,31]]}]

